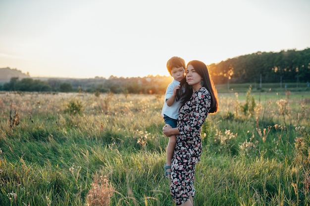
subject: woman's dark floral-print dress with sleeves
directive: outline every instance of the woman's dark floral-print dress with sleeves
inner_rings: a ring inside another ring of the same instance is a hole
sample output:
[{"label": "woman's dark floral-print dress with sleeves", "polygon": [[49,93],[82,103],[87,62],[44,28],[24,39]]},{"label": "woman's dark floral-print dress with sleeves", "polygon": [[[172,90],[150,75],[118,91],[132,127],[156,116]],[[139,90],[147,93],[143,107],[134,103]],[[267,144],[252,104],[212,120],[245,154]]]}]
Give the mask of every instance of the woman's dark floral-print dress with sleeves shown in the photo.
[{"label": "woman's dark floral-print dress with sleeves", "polygon": [[201,128],[210,110],[211,96],[205,87],[193,93],[179,111],[176,146],[171,163],[171,196],[181,205],[195,196],[195,165],[202,153]]}]

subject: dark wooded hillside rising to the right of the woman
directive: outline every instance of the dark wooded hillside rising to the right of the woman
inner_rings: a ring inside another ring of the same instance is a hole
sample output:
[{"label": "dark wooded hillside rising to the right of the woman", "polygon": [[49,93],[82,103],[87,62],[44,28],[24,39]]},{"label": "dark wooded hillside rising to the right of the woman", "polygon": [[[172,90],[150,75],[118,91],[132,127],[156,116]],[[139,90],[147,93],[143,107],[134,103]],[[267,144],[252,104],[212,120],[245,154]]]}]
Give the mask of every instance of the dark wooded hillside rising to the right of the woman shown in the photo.
[{"label": "dark wooded hillside rising to the right of the woman", "polygon": [[310,48],[296,51],[256,52],[208,65],[217,84],[308,82],[310,81]]}]

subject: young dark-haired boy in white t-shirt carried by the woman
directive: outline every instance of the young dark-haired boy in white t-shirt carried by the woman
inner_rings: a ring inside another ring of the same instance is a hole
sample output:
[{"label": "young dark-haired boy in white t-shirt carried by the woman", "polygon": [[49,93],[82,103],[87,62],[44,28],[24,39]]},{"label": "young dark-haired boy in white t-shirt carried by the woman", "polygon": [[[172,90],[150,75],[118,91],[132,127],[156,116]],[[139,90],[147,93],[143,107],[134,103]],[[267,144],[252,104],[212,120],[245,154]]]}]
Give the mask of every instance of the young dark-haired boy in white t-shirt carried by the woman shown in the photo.
[{"label": "young dark-haired boy in white t-shirt carried by the woman", "polygon": [[[177,126],[176,122],[180,108],[180,103],[175,100],[175,97],[177,90],[180,89],[180,81],[184,78],[185,68],[185,61],[180,57],[174,56],[167,61],[167,69],[169,74],[173,77],[173,81],[166,89],[161,115],[163,115],[165,124],[169,124],[173,128]],[[174,153],[175,143],[176,135],[170,136],[166,149],[167,160],[163,167],[167,178],[170,178],[171,174],[171,159]]]}]

